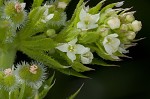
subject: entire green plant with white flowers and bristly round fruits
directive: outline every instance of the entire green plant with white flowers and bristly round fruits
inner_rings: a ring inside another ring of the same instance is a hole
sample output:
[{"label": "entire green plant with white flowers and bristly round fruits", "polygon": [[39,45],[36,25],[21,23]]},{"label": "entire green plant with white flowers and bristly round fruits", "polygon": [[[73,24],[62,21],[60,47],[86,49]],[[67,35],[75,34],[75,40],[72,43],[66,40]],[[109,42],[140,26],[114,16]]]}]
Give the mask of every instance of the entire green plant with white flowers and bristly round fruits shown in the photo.
[{"label": "entire green plant with white flowers and bristly round fruits", "polygon": [[[0,96],[44,98],[53,86],[53,76],[47,77],[44,65],[87,78],[80,72],[93,70],[89,64],[112,66],[105,60],[127,57],[142,28],[135,11],[121,8],[124,2],[103,6],[102,0],[89,7],[88,2],[80,0],[68,19],[65,9],[70,1],[43,4],[43,0],[33,0],[26,10],[23,0],[0,0]],[[14,65],[17,51],[40,63]]]}]

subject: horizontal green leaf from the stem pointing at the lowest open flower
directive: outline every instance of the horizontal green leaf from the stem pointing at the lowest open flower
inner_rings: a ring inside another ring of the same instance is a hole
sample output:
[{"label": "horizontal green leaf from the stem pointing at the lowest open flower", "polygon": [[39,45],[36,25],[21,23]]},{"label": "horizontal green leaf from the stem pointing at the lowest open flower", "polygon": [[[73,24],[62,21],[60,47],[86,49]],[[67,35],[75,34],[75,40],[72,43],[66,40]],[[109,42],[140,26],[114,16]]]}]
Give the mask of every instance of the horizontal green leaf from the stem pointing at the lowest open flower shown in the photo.
[{"label": "horizontal green leaf from the stem pointing at the lowest open flower", "polygon": [[27,41],[22,41],[21,45],[34,50],[50,50],[56,47],[57,43],[54,42],[51,38],[42,38],[42,39],[30,39]]}]

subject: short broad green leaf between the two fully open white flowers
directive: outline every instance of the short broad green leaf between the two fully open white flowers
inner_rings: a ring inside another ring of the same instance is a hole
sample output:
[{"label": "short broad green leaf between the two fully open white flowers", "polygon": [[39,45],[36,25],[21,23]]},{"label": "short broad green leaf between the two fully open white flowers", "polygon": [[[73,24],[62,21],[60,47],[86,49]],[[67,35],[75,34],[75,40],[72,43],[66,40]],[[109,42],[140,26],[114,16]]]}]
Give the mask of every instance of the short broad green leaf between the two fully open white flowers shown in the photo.
[{"label": "short broad green leaf between the two fully open white flowers", "polygon": [[83,44],[93,43],[99,39],[99,34],[96,32],[87,32],[81,35],[79,42]]}]

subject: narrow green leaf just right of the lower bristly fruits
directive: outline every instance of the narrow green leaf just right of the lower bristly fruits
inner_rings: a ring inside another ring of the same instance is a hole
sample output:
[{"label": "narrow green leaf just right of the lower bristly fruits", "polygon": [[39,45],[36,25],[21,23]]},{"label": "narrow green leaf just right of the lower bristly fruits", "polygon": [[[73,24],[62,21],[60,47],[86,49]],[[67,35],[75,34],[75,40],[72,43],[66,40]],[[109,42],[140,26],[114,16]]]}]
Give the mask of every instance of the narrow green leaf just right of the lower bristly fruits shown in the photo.
[{"label": "narrow green leaf just right of the lower bristly fruits", "polygon": [[43,99],[46,94],[48,93],[48,91],[53,87],[53,85],[55,84],[55,81],[52,83],[53,79],[54,79],[55,73],[52,75],[52,77],[50,77],[48,80],[46,80],[43,83],[43,86],[41,89],[41,92],[39,93],[39,99]]}]

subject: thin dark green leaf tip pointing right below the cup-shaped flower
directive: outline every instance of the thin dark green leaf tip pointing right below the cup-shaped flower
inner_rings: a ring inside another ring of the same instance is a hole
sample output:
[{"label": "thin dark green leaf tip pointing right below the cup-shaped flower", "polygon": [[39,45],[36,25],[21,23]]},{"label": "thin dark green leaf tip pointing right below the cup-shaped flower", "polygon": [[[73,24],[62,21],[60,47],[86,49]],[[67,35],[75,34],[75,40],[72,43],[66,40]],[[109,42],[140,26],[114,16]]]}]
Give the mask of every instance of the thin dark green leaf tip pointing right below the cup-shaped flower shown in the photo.
[{"label": "thin dark green leaf tip pointing right below the cup-shaped flower", "polygon": [[106,62],[104,62],[102,59],[97,59],[97,58],[94,58],[92,60],[92,65],[101,65],[101,66],[117,66],[117,65],[114,65],[114,64],[107,64]]}]

